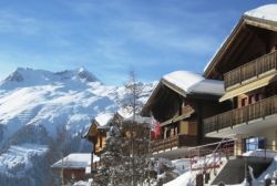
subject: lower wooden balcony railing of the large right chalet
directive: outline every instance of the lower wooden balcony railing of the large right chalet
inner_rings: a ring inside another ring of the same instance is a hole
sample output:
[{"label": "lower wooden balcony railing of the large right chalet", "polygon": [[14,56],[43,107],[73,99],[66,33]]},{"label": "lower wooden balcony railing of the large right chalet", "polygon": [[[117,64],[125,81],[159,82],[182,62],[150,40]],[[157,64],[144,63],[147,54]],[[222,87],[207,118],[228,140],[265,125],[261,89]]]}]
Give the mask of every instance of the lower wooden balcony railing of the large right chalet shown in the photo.
[{"label": "lower wooden balcony railing of the large right chalet", "polygon": [[233,127],[273,114],[277,114],[277,95],[204,120],[204,133]]}]

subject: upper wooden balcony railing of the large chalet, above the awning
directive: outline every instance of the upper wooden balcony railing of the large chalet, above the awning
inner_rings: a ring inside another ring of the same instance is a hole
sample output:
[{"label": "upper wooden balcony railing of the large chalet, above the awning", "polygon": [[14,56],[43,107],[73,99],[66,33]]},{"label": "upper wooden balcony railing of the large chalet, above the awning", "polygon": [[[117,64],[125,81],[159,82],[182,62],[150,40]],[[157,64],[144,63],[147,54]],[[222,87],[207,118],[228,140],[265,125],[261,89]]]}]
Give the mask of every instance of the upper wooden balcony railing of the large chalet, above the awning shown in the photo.
[{"label": "upper wooden balcony railing of the large chalet, above the awning", "polygon": [[235,84],[240,84],[243,81],[252,78],[258,78],[268,71],[276,71],[277,68],[277,51],[265,54],[249,63],[238,66],[224,74],[225,89]]}]

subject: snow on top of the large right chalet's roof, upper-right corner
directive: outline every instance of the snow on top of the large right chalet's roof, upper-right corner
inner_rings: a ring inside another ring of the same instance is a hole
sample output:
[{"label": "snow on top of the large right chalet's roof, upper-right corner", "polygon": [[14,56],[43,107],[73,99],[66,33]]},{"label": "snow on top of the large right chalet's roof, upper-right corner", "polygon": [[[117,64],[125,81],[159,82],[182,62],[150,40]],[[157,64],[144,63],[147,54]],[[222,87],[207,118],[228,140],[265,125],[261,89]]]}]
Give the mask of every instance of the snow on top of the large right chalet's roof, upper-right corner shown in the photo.
[{"label": "snow on top of the large right chalet's roof, upper-right corner", "polygon": [[266,4],[244,13],[245,16],[277,22],[277,4]]}]

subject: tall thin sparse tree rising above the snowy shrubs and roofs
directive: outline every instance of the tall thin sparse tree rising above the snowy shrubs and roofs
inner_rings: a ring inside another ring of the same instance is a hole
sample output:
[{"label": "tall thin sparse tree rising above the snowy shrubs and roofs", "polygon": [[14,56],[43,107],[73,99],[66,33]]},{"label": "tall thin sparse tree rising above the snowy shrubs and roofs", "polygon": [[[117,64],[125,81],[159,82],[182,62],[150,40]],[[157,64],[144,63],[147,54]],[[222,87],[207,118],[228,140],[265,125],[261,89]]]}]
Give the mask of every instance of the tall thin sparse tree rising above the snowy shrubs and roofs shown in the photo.
[{"label": "tall thin sparse tree rising above the snowy shrubs and roofs", "polygon": [[134,71],[130,72],[130,80],[125,84],[127,99],[124,107],[132,113],[132,121],[125,123],[130,131],[130,157],[132,186],[142,185],[148,178],[148,146],[150,146],[150,127],[147,123],[141,123],[138,113],[142,108],[142,102],[138,101],[143,92],[142,84],[137,81]]}]

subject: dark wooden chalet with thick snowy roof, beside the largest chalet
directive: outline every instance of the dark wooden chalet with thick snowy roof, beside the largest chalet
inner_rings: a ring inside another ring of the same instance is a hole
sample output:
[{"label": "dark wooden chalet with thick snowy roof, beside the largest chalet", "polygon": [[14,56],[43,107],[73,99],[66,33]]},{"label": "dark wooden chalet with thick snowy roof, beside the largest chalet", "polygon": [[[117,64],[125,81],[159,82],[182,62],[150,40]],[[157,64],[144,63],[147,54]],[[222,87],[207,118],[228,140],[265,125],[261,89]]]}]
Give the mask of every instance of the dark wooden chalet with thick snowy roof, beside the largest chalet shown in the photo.
[{"label": "dark wooden chalet with thick snowy roof, beside the largest chalet", "polygon": [[203,118],[228,106],[218,104],[223,93],[222,81],[206,80],[197,73],[176,71],[164,75],[142,111],[161,127],[152,152],[176,158],[176,155],[184,156],[186,147],[215,142],[215,138],[203,137]]}]

